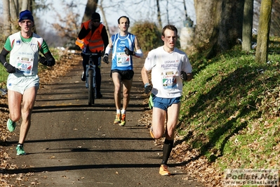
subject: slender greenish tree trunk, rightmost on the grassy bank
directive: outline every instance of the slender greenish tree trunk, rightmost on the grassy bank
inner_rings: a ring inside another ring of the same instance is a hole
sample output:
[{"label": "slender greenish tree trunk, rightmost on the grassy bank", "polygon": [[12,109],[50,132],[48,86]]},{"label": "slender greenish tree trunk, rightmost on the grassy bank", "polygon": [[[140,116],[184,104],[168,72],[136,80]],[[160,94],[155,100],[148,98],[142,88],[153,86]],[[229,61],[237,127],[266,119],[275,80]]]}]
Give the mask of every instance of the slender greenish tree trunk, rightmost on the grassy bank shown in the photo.
[{"label": "slender greenish tree trunk, rightmost on the grassy bank", "polygon": [[257,49],[255,51],[255,62],[267,62],[267,50],[269,41],[269,27],[272,15],[272,0],[262,0],[260,5],[260,20],[258,28]]}]

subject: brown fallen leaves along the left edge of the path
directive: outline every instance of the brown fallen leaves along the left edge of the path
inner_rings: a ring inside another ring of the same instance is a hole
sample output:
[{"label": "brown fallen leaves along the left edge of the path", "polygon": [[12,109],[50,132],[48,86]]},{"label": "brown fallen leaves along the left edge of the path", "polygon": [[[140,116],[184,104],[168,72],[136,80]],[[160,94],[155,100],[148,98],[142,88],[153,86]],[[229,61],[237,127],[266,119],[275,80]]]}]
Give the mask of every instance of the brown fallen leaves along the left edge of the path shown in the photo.
[{"label": "brown fallen leaves along the left edge of the path", "polygon": [[[68,53],[67,51],[55,51],[54,56],[60,56],[59,60],[56,60],[55,68],[53,67],[39,67],[39,77],[40,77],[40,86],[44,86],[44,84],[48,84],[48,82],[52,82],[55,77],[64,76],[67,71],[72,68],[74,63],[79,62],[81,60],[80,56],[75,56],[72,53]],[[5,85],[0,85],[0,88],[5,88]],[[0,95],[0,186],[13,186],[9,184],[9,179],[12,177],[10,174],[7,174],[5,171],[8,169],[18,169],[18,166],[11,165],[9,162],[10,156],[7,153],[8,147],[6,146],[6,141],[8,138],[13,135],[13,133],[9,132],[6,127],[6,122],[8,120],[8,99],[7,95],[4,94],[5,89],[1,89]],[[18,181],[18,186],[20,185],[20,181],[28,180],[28,176],[32,175],[32,173],[27,174],[13,174],[13,178],[16,177]],[[30,185],[38,185],[38,183],[30,183]]]}]

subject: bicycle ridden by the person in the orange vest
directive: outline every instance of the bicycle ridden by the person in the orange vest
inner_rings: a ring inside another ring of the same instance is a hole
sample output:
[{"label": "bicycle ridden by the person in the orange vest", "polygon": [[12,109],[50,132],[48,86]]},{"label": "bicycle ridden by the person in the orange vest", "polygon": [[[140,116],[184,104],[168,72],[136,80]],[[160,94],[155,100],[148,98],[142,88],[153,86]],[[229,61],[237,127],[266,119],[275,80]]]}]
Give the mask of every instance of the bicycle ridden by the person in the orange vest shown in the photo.
[{"label": "bicycle ridden by the person in the orange vest", "polygon": [[93,56],[100,56],[98,60],[101,60],[102,53],[75,53],[79,56],[89,56],[88,65],[86,65],[86,89],[88,89],[88,105],[94,104],[96,98],[96,84],[95,84],[95,65],[93,63]]}]

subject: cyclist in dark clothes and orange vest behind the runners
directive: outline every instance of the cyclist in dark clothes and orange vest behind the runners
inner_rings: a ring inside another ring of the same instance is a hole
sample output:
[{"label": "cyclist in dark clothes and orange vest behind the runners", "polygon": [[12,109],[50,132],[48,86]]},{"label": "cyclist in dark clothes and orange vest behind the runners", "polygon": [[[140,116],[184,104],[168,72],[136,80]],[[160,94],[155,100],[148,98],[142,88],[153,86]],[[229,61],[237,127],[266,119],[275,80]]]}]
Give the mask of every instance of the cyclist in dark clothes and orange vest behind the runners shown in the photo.
[{"label": "cyclist in dark clothes and orange vest behind the runners", "polygon": [[[81,24],[81,31],[79,32],[76,45],[78,45],[85,53],[96,53],[105,51],[105,47],[109,44],[109,39],[105,26],[100,23],[99,13],[93,13],[91,20]],[[84,72],[81,75],[81,80],[86,81],[86,65],[88,64],[89,56],[83,56]],[[93,63],[95,65],[95,82],[96,82],[96,97],[102,98],[100,92],[101,86],[101,72],[100,56],[93,56]]]}]

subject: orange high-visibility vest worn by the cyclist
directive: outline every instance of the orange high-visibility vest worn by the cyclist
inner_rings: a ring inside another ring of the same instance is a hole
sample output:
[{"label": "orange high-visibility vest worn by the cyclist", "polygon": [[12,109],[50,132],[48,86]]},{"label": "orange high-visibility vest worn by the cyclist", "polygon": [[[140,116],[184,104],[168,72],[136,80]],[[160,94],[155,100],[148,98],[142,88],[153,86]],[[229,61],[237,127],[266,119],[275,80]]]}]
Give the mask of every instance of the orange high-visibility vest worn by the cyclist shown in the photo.
[{"label": "orange high-visibility vest worn by the cyclist", "polygon": [[[86,30],[88,29],[88,25],[91,22],[91,20],[88,20],[86,22],[83,22],[81,24],[81,27],[85,27]],[[100,23],[98,28],[92,33],[91,31],[88,33],[88,35],[84,39],[76,39],[76,45],[79,46],[81,49],[84,49],[85,46],[88,46],[88,48],[91,50],[91,52],[99,52],[104,51],[104,43],[101,37],[102,28],[104,25]]]}]

